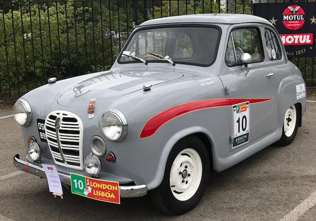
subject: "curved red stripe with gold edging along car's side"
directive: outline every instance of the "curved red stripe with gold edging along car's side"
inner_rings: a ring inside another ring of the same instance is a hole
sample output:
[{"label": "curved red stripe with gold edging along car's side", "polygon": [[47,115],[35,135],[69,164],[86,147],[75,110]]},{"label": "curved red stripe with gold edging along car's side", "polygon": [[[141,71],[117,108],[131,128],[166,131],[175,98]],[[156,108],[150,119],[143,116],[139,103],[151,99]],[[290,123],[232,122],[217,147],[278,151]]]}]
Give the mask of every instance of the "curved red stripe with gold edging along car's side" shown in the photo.
[{"label": "curved red stripe with gold edging along car's side", "polygon": [[143,127],[142,132],[139,137],[141,139],[150,137],[156,133],[156,131],[166,122],[181,116],[186,113],[190,113],[193,111],[208,109],[208,108],[217,108],[217,107],[225,107],[231,106],[235,104],[239,104],[245,101],[249,101],[250,104],[255,104],[259,102],[265,102],[272,100],[270,99],[209,99],[209,100],[200,100],[193,101],[181,105],[174,106],[167,110],[164,110],[152,118],[150,118]]}]

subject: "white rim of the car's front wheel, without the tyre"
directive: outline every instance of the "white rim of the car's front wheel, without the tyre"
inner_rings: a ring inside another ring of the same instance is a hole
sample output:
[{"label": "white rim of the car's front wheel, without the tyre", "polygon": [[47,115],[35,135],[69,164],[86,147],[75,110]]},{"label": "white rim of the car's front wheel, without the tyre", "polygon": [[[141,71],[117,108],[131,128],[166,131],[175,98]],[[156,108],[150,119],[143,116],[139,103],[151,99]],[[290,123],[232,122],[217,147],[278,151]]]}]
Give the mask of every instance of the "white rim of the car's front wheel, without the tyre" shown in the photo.
[{"label": "white rim of the car's front wheel, without the tyre", "polygon": [[202,161],[196,150],[186,148],[174,159],[170,171],[170,188],[180,201],[190,199],[197,192],[202,178]]}]

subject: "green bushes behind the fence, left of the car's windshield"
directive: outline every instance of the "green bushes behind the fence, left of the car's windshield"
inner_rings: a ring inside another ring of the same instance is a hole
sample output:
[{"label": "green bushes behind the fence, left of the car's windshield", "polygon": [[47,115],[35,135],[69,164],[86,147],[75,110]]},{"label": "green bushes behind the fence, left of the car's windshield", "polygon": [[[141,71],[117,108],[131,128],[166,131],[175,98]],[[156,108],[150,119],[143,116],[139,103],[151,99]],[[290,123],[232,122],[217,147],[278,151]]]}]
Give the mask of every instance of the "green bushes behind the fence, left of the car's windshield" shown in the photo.
[{"label": "green bushes behind the fence, left of the car's windshield", "polygon": [[[111,67],[128,37],[127,23],[132,31],[132,17],[126,20],[126,7],[83,3],[23,3],[17,10],[0,11],[4,16],[4,26],[0,20],[2,91],[8,90],[9,81],[11,89],[17,89],[18,81],[27,81],[28,85],[20,85],[25,90],[45,83],[49,76],[62,79]],[[119,36],[114,34],[118,16]]]}]

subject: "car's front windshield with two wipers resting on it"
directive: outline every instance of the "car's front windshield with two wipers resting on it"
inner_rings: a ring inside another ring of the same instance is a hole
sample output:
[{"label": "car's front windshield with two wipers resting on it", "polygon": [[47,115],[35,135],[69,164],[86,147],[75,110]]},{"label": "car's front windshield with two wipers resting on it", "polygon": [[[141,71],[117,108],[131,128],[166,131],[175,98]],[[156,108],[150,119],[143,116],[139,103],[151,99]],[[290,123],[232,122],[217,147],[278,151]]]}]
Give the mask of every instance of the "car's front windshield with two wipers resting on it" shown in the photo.
[{"label": "car's front windshield with two wipers resting on it", "polygon": [[[209,66],[214,62],[219,43],[219,28],[168,27],[139,30],[133,34],[118,59],[119,63],[165,62]],[[168,61],[169,60],[169,61]]]}]

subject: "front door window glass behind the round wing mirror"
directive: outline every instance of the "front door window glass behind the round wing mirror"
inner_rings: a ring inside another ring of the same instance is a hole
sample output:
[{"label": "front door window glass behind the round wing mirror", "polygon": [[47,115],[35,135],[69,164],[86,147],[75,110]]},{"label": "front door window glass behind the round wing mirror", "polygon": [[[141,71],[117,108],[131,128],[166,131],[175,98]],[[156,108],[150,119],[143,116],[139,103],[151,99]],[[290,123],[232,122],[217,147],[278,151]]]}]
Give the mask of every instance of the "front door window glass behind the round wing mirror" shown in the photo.
[{"label": "front door window glass behind the round wing mirror", "polygon": [[228,66],[241,65],[239,58],[243,53],[251,55],[251,63],[264,60],[258,29],[242,28],[231,32],[225,55],[226,64]]}]

